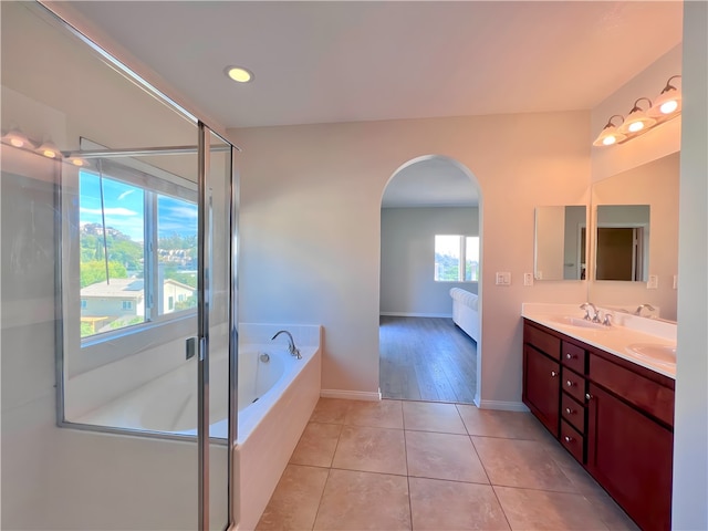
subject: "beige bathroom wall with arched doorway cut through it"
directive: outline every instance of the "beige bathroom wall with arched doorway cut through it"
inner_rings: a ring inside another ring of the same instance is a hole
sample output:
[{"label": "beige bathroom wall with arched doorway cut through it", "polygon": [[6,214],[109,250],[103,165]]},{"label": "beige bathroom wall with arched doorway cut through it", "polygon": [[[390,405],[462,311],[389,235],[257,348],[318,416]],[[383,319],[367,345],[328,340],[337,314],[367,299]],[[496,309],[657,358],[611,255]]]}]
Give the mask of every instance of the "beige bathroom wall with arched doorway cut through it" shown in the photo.
[{"label": "beige bathroom wall with arched doorway cut through it", "polygon": [[[521,303],[586,294],[522,279],[534,207],[587,202],[589,125],[570,112],[230,129],[243,148],[241,320],[322,323],[323,387],[377,393],[381,197],[405,162],[450,157],[481,189],[481,398],[518,406]],[[496,287],[496,271],[512,285]]]}]

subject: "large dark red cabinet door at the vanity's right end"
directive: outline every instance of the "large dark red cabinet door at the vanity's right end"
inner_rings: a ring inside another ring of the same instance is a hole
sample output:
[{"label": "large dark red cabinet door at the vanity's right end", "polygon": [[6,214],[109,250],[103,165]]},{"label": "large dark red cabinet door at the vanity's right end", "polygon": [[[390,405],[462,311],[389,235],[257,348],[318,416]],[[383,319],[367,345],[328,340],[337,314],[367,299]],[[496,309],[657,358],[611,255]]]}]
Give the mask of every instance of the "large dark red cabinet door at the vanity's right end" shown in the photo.
[{"label": "large dark red cabinet door at the vanity's right end", "polygon": [[670,529],[674,435],[596,385],[589,391],[589,471],[642,529]]}]

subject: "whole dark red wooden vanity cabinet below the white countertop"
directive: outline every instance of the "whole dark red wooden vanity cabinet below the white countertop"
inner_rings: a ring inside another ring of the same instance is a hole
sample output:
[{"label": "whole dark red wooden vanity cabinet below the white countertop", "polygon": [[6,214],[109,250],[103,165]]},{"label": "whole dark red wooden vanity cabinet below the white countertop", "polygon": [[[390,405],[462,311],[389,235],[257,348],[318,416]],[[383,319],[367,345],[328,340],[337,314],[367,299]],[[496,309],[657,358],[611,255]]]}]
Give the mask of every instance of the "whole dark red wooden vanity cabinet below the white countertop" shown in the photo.
[{"label": "whole dark red wooden vanity cabinet below the white countertop", "polygon": [[523,403],[642,529],[670,529],[674,379],[531,321],[523,342]]}]

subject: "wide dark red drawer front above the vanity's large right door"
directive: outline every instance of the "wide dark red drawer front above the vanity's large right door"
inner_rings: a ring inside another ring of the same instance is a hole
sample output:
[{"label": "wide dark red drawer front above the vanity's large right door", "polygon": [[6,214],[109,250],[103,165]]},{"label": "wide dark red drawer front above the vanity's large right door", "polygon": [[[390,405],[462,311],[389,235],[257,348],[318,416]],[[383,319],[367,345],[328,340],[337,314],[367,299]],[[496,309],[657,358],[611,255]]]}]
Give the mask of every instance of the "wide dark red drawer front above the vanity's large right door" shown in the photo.
[{"label": "wide dark red drawer front above the vanity's large right door", "polygon": [[590,356],[589,374],[593,382],[622,399],[674,426],[674,389],[594,354]]}]

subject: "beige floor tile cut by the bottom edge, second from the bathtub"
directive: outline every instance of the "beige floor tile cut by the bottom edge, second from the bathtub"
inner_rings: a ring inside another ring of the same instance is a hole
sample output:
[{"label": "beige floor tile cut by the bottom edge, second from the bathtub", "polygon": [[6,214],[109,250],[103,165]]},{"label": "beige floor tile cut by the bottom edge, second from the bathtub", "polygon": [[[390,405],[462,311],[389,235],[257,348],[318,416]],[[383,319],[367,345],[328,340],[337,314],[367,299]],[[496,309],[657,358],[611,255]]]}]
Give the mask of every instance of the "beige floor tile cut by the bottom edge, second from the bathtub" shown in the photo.
[{"label": "beige floor tile cut by the bottom edge, second from the bathtub", "polygon": [[331,470],[314,529],[409,530],[408,480],[402,476]]}]

